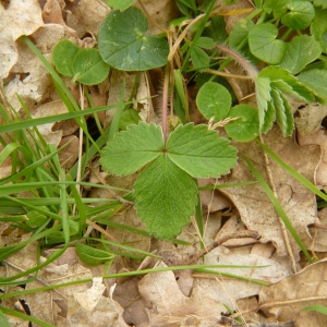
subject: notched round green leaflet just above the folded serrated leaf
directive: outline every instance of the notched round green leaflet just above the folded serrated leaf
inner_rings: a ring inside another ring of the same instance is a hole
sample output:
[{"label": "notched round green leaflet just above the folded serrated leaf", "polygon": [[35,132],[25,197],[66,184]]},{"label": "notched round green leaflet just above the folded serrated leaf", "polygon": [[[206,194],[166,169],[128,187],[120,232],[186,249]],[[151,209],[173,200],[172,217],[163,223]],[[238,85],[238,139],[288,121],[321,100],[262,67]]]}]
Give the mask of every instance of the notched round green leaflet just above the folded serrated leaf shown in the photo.
[{"label": "notched round green leaflet just above the folded serrated leaf", "polygon": [[264,62],[278,64],[286,51],[286,44],[278,36],[278,28],[271,23],[255,25],[249,32],[251,52]]}]

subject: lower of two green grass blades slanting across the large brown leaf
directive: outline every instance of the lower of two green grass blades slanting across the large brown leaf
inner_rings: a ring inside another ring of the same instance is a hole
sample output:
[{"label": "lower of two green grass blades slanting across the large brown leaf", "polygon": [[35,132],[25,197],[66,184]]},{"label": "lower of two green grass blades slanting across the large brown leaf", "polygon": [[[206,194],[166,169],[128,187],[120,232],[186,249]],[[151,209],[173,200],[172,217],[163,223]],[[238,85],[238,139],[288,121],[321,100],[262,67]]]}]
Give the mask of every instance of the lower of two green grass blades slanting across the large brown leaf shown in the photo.
[{"label": "lower of two green grass blades slanting across the large brown leaf", "polygon": [[295,229],[293,228],[291,221],[289,220],[288,216],[286,215],[283,208],[281,207],[280,203],[276,198],[276,196],[275,196],[274,192],[271,191],[271,189],[269,187],[269,185],[264,180],[264,178],[258,172],[258,170],[254,167],[254,165],[250,161],[250,159],[246,156],[244,156],[243,154],[241,154],[241,153],[240,153],[240,156],[244,159],[244,161],[246,162],[247,167],[252,171],[253,175],[261,183],[263,190],[266,192],[266,194],[269,197],[271,204],[274,205],[275,210],[277,211],[278,216],[281,218],[281,220],[283,221],[284,226],[287,227],[287,229],[291,233],[292,238],[295,240],[295,242],[298,243],[298,245],[300,246],[300,249],[303,251],[303,253],[304,253],[305,257],[307,258],[307,261],[312,264],[313,261],[312,261],[310,254],[307,253],[307,251],[306,251],[306,249],[305,249],[305,246],[304,246],[301,238],[296,233]]}]

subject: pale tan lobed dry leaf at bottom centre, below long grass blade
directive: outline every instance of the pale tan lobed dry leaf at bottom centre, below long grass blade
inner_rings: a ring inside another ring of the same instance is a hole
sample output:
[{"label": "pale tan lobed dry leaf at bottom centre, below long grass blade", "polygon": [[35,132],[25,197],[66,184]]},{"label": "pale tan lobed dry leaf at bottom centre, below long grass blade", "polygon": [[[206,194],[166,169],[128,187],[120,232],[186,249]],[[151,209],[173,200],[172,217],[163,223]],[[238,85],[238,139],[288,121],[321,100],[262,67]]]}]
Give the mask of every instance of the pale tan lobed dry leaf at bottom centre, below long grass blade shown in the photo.
[{"label": "pale tan lobed dry leaf at bottom centre, below long grass blade", "polygon": [[[166,267],[159,264],[158,267]],[[185,296],[172,271],[149,274],[138,282],[150,326],[215,326],[225,306],[207,294]],[[211,325],[210,325],[211,324]]]}]

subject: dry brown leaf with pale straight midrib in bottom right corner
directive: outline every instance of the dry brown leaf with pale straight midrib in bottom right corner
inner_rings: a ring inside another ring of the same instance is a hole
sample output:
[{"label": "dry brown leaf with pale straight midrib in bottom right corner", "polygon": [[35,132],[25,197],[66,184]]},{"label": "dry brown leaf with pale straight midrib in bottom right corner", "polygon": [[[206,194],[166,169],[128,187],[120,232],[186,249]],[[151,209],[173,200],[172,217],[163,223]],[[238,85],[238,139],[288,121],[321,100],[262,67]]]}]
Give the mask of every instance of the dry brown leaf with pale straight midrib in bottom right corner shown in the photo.
[{"label": "dry brown leaf with pale straight midrib in bottom right corner", "polygon": [[275,320],[294,319],[295,326],[327,326],[327,315],[301,312],[308,305],[327,305],[327,262],[313,264],[299,274],[259,292],[259,308]]}]

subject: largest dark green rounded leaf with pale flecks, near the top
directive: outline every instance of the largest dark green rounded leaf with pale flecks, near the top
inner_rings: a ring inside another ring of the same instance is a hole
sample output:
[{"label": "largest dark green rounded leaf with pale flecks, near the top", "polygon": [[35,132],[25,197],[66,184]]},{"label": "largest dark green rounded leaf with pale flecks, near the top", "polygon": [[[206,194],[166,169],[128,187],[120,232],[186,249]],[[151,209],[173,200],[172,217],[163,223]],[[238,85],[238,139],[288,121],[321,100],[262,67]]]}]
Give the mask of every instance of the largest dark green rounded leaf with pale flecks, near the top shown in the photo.
[{"label": "largest dark green rounded leaf with pale flecks, near the top", "polygon": [[146,71],[167,63],[169,52],[165,38],[145,36],[146,16],[135,7],[112,11],[99,31],[102,59],[121,71]]}]

